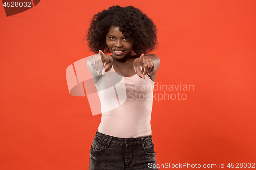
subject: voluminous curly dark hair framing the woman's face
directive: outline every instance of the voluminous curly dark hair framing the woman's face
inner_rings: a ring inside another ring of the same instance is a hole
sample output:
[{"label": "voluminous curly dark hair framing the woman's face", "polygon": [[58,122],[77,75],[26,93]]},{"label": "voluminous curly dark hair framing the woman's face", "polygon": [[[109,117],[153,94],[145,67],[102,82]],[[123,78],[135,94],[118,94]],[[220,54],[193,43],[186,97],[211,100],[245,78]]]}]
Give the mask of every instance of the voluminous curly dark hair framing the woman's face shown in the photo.
[{"label": "voluminous curly dark hair framing the woman's face", "polygon": [[110,53],[106,45],[106,34],[111,26],[119,27],[124,36],[133,40],[133,53],[136,55],[148,54],[156,48],[157,29],[153,21],[138,8],[116,5],[92,17],[87,35],[83,39],[88,41],[92,52],[102,50]]}]

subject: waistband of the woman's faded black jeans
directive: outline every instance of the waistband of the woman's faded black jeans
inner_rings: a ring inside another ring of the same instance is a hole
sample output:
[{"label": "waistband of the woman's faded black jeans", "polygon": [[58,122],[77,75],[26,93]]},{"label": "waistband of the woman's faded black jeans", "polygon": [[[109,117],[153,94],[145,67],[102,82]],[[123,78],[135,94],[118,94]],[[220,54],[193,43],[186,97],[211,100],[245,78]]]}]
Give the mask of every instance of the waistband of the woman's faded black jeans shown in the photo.
[{"label": "waistband of the woman's faded black jeans", "polygon": [[119,138],[114,136],[109,136],[100,132],[96,132],[95,140],[104,143],[106,146],[118,145],[120,147],[144,147],[144,144],[152,143],[151,135],[144,137],[136,137],[136,138]]}]

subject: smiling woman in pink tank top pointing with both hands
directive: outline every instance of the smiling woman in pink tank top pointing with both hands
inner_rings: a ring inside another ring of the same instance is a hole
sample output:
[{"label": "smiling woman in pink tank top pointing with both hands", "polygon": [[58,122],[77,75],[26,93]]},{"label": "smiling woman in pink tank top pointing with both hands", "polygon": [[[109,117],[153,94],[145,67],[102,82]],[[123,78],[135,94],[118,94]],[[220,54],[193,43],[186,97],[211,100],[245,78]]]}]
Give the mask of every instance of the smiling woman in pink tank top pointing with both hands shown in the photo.
[{"label": "smiling woman in pink tank top pointing with both hands", "polygon": [[90,170],[154,169],[149,166],[156,164],[150,120],[160,60],[145,54],[156,47],[156,32],[153,21],[132,6],[109,7],[91,19],[86,40],[99,54],[87,65],[102,117],[91,146]]}]

